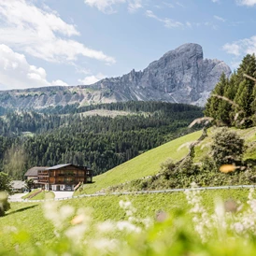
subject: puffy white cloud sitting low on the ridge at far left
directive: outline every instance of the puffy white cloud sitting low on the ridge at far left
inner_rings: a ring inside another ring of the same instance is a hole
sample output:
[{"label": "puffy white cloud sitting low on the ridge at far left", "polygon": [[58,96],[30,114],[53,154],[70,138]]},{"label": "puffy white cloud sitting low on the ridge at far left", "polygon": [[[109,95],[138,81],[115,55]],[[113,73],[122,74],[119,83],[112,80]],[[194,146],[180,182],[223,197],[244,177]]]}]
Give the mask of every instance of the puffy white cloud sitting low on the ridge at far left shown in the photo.
[{"label": "puffy white cloud sitting low on the ridge at far left", "polygon": [[45,69],[28,64],[23,54],[0,45],[0,90],[50,86],[56,81],[49,82]]}]

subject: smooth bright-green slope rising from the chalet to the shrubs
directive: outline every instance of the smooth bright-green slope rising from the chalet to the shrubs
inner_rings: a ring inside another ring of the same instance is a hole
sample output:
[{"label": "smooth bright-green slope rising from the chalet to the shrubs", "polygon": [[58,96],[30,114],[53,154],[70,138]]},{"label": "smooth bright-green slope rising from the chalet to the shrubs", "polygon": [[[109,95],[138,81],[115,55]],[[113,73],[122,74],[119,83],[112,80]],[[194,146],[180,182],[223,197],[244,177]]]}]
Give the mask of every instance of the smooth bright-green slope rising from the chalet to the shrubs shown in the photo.
[{"label": "smooth bright-green slope rising from the chalet to the shrubs", "polygon": [[160,170],[160,164],[167,158],[172,158],[174,161],[182,159],[189,152],[189,149],[187,147],[178,148],[184,143],[195,141],[201,134],[201,131],[195,132],[151,149],[107,173],[94,177],[92,184],[84,185],[83,190],[75,194],[99,192],[109,186],[157,174]]}]

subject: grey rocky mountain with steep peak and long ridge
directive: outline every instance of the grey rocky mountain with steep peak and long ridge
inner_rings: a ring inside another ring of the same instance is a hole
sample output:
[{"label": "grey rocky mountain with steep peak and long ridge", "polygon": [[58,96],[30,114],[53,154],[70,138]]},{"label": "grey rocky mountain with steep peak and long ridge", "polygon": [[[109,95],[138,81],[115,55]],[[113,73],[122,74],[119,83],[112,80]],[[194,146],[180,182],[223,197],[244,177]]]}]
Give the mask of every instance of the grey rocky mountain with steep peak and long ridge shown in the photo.
[{"label": "grey rocky mountain with steep peak and long ridge", "polygon": [[131,100],[204,106],[222,72],[229,77],[231,69],[219,60],[204,59],[202,47],[191,43],[168,51],[143,71],[132,70],[122,77],[105,78],[89,86],[2,91],[0,106],[86,106]]}]

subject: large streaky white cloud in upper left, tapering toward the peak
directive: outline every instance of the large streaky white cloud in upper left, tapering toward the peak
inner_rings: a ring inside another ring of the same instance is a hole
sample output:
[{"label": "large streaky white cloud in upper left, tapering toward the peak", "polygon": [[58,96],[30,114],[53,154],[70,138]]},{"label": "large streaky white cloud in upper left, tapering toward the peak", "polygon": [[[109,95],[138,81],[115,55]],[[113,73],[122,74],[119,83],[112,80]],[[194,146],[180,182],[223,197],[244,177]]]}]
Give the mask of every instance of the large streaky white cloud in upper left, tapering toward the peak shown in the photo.
[{"label": "large streaky white cloud in upper left, tapering toward the peak", "polygon": [[75,25],[63,21],[49,7],[40,9],[25,0],[0,1],[0,43],[50,62],[76,61],[84,56],[107,64],[115,59],[92,50],[70,36],[79,36]]}]

